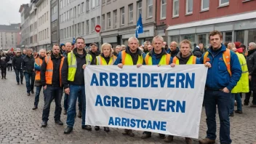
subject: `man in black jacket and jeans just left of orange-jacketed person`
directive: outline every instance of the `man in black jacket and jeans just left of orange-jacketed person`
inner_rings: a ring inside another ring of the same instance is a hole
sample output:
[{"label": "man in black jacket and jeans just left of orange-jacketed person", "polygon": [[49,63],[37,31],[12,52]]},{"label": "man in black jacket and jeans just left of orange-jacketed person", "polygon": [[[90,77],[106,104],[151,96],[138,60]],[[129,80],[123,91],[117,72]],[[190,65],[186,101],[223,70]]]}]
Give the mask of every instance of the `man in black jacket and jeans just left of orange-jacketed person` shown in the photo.
[{"label": "man in black jacket and jeans just left of orange-jacketed person", "polygon": [[25,86],[27,87],[27,96],[30,96],[31,94],[34,94],[33,84],[36,76],[34,71],[35,59],[32,55],[32,49],[26,49],[25,52],[27,55],[23,57],[23,73],[25,76]]}]

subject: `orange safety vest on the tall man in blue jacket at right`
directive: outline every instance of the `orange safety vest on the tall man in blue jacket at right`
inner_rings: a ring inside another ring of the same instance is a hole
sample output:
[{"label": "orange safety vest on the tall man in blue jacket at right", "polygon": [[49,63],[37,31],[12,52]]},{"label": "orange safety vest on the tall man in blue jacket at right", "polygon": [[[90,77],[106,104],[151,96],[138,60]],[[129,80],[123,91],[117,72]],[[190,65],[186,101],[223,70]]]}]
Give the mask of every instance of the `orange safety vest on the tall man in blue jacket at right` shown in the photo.
[{"label": "orange safety vest on the tall man in blue jacket at right", "polygon": [[[209,52],[205,52],[204,54],[204,63],[207,63],[209,61]],[[225,49],[223,52],[223,60],[225,63],[225,66],[227,67],[228,73],[232,75],[231,73],[231,50],[230,49]]]}]

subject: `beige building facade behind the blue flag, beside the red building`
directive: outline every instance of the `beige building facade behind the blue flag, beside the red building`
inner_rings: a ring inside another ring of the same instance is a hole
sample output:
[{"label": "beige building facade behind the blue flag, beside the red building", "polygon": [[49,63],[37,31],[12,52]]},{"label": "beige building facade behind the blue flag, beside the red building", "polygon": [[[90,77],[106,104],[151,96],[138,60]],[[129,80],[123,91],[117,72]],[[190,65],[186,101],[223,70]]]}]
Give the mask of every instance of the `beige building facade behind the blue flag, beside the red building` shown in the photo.
[{"label": "beige building facade behind the blue flag, beside the red building", "polygon": [[144,33],[140,33],[140,44],[151,41],[155,36],[156,0],[102,1],[102,39],[115,47],[117,44],[128,44],[128,39],[135,36],[139,15],[143,18]]}]

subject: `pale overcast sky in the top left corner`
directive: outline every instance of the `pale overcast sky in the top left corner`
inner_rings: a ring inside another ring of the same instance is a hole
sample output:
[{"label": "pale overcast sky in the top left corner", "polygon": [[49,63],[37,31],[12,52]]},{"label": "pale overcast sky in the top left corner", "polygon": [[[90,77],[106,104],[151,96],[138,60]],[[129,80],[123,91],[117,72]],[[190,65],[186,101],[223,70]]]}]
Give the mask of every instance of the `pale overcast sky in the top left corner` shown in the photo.
[{"label": "pale overcast sky in the top left corner", "polygon": [[30,0],[0,0],[0,25],[20,23],[20,5],[29,4]]}]

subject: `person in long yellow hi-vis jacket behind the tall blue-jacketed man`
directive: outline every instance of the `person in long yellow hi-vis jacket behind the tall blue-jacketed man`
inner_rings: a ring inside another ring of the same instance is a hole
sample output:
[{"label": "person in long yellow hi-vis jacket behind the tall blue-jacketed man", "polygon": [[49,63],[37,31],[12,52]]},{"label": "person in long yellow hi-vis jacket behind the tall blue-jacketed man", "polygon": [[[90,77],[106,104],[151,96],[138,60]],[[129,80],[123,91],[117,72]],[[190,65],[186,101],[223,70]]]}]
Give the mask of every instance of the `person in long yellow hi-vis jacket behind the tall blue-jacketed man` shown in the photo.
[{"label": "person in long yellow hi-vis jacket behind the tall blue-jacketed man", "polygon": [[[236,52],[236,44],[234,43],[229,43],[228,44],[228,49],[232,50],[233,52]],[[230,111],[229,111],[229,116],[234,116],[233,111],[234,111],[234,105],[235,105],[235,100],[237,103],[237,110],[235,113],[243,113],[242,108],[241,108],[241,97],[239,95],[240,92],[242,93],[247,93],[249,92],[249,72],[247,68],[247,60],[245,59],[244,55],[239,54],[239,52],[236,52],[237,57],[239,57],[239,63],[241,65],[241,78],[237,82],[236,87],[234,87],[231,91],[231,104],[230,104]]]}]

